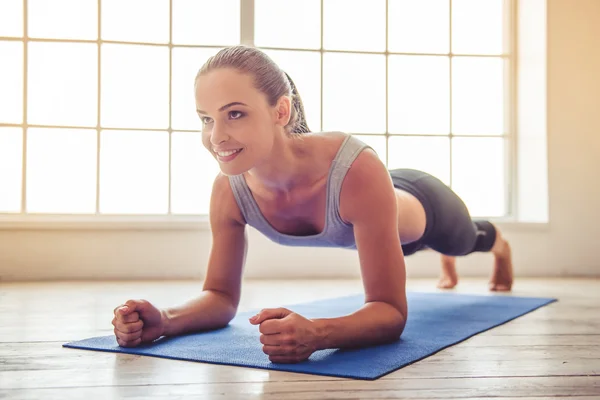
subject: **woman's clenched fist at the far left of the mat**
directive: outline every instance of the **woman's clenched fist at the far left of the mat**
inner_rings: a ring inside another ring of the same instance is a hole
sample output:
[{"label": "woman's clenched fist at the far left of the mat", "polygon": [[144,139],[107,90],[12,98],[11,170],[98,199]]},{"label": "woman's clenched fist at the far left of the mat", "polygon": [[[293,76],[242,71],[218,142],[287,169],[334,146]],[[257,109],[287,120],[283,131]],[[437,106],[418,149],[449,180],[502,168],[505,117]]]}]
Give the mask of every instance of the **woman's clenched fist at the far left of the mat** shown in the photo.
[{"label": "woman's clenched fist at the far left of the mat", "polygon": [[128,300],[114,309],[117,343],[135,347],[161,337],[165,330],[163,313],[146,300]]}]

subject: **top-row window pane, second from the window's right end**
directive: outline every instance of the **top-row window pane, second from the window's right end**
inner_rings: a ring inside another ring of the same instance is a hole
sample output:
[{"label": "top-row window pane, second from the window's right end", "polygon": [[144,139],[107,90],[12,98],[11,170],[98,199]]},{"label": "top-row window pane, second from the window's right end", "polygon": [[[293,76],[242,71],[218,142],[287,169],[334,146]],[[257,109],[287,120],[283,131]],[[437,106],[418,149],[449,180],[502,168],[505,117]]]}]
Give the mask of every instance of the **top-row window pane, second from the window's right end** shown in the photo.
[{"label": "top-row window pane, second from the window's right end", "polygon": [[448,0],[389,0],[388,50],[403,53],[448,53]]}]

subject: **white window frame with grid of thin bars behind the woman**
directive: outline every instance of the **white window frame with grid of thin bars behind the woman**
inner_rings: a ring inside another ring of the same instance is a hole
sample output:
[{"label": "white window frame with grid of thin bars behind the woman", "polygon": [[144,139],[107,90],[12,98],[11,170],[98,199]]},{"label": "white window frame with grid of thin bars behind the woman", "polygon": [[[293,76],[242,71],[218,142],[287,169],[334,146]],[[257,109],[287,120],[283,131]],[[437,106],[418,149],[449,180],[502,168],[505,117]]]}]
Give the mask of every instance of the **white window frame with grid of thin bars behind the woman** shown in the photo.
[{"label": "white window frame with grid of thin bars behind the woman", "polygon": [[[326,52],[331,52],[330,50],[323,49],[323,1],[321,0],[321,76],[323,75],[323,54]],[[450,44],[452,42],[452,0],[448,0],[450,4]],[[515,216],[517,215],[517,196],[515,188],[517,187],[517,165],[516,165],[516,154],[517,154],[517,140],[516,140],[516,1],[517,0],[504,0],[504,24],[505,24],[505,51],[501,56],[487,56],[487,57],[502,57],[508,63],[508,68],[505,69],[507,71],[507,76],[505,76],[505,84],[507,87],[505,88],[505,127],[506,133],[504,135],[485,135],[485,137],[505,137],[508,139],[510,146],[507,148],[507,154],[505,157],[505,176],[507,177],[507,187],[505,189],[506,194],[506,204],[508,206],[508,215],[502,218],[490,218],[492,221],[500,222],[500,223],[514,223],[516,222]],[[24,10],[23,10],[23,29],[24,32],[27,32],[27,0],[24,0]],[[240,0],[240,43],[254,46],[254,0]],[[171,36],[172,36],[172,9],[173,9],[173,0],[169,1],[170,5],[170,25],[171,25]],[[69,42],[69,43],[97,43],[98,44],[98,96],[100,96],[100,79],[101,79],[101,54],[100,54],[100,43],[116,43],[116,44],[135,44],[132,42],[120,42],[120,41],[106,41],[101,40],[100,30],[101,30],[101,1],[98,0],[98,40],[70,40],[70,39],[29,39],[27,35],[24,35],[23,38],[1,38],[2,40],[12,40],[19,41],[25,44],[24,46],[24,64],[23,64],[23,79],[24,79],[24,96],[23,96],[23,121],[27,121],[27,43],[30,41],[50,41],[50,42]],[[387,41],[388,41],[388,1],[386,1],[386,49],[387,49]],[[171,38],[170,38],[171,39]],[[170,49],[173,47],[178,47],[177,45],[172,44],[172,40],[169,40],[168,44],[156,44],[156,46],[168,46]],[[189,47],[189,46],[187,46]],[[199,48],[219,48],[222,46],[192,46]],[[298,48],[272,48],[274,50],[292,50],[292,51],[302,51],[304,49]],[[306,49],[308,50],[308,49]],[[310,51],[315,51],[311,49]],[[319,51],[319,50],[317,50]],[[388,145],[387,138],[390,136],[407,136],[407,135],[399,135],[393,134],[390,135],[387,129],[387,115],[388,115],[388,98],[387,98],[387,71],[388,71],[388,62],[387,57],[390,54],[397,55],[403,53],[397,52],[365,52],[365,51],[343,51],[344,53],[368,53],[368,54],[385,54],[386,55],[386,133],[385,134],[377,134],[379,136],[384,135],[386,137],[386,154],[385,161],[387,164],[388,159]],[[461,54],[458,57],[469,56],[465,54]],[[477,57],[481,57],[481,55],[473,55]],[[457,55],[449,54],[450,61],[452,57],[457,57]],[[485,57],[485,56],[484,56]],[[169,55],[170,65],[172,65],[172,51]],[[171,72],[170,72],[171,73]],[[171,95],[171,86],[172,79],[169,79],[169,95]],[[450,62],[450,96],[452,96],[452,62]],[[321,82],[321,126],[323,126],[323,82]],[[100,102],[98,102],[98,120],[97,120],[97,138],[98,142],[100,140],[100,130],[105,130],[107,128],[100,127]],[[452,107],[452,102],[450,101],[450,107]],[[452,118],[452,113],[450,113],[450,118]],[[171,122],[171,109],[169,108],[169,122]],[[96,172],[96,214],[82,214],[82,215],[61,215],[61,214],[34,214],[23,212],[26,210],[26,201],[27,201],[27,193],[26,193],[26,157],[27,157],[27,128],[28,127],[41,127],[41,128],[77,128],[73,126],[46,126],[46,125],[29,125],[29,124],[0,124],[0,126],[8,126],[8,127],[20,127],[23,129],[23,163],[22,163],[22,195],[21,195],[21,213],[16,214],[6,214],[0,213],[0,229],[115,229],[115,228],[123,228],[123,229],[206,229],[209,227],[208,216],[207,215],[180,215],[180,214],[171,214],[171,178],[169,179],[169,214],[165,215],[106,215],[99,214],[99,173],[100,166],[97,165]],[[82,127],[83,128],[83,127]],[[86,127],[89,129],[89,127]],[[110,129],[110,128],[108,128]],[[148,130],[148,129],[144,129]],[[159,131],[164,131],[163,129],[156,129]],[[171,127],[171,123],[169,123],[168,133],[169,133],[169,169],[171,168],[171,133],[173,129]],[[178,131],[185,131],[180,130]],[[349,132],[352,133],[352,132]],[[427,136],[432,137],[435,135],[410,135],[410,136]],[[453,135],[450,132],[449,135],[437,135],[442,137],[456,137],[457,135]],[[482,137],[483,135],[461,135],[464,137]],[[100,160],[100,146],[98,143],[97,146],[97,162]],[[169,171],[169,177],[171,173]],[[450,179],[452,179],[452,140],[450,140]],[[451,182],[451,181],[450,181]],[[534,224],[532,224],[534,225]]]}]

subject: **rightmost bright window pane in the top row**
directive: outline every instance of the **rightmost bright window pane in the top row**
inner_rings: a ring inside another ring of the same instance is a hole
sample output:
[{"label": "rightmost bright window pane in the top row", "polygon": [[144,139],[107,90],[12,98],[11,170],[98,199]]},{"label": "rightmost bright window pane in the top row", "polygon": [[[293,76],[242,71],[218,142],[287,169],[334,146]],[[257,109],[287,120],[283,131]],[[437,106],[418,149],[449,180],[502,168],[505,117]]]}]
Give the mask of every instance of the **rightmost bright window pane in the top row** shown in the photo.
[{"label": "rightmost bright window pane in the top row", "polygon": [[452,52],[502,54],[504,0],[452,1]]}]

